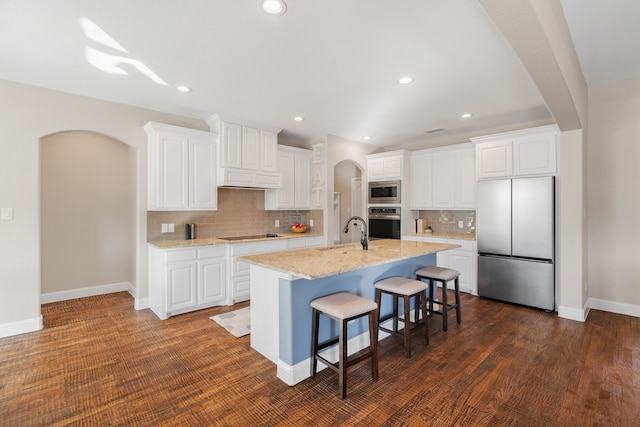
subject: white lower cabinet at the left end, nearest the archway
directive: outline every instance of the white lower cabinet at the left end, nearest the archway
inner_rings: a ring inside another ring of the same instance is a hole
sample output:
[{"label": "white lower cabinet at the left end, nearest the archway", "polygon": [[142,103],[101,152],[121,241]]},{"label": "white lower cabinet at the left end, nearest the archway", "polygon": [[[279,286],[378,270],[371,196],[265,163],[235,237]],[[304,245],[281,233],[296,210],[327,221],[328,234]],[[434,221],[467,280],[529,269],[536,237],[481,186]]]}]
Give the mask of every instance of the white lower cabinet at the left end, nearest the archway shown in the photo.
[{"label": "white lower cabinet at the left end, nearest the archway", "polygon": [[226,302],[226,245],[149,247],[149,306],[161,319]]}]

